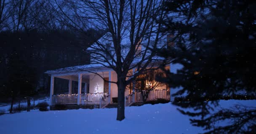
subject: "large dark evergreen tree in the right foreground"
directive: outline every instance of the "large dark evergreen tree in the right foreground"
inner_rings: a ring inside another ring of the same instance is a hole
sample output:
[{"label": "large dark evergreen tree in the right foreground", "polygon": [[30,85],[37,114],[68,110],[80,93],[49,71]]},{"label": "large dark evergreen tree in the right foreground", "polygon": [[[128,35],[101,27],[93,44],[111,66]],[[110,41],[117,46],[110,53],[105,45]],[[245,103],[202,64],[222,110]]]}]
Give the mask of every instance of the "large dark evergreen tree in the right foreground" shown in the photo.
[{"label": "large dark evergreen tree in the right foreground", "polygon": [[[212,113],[219,101],[203,97],[238,92],[255,95],[256,2],[169,0],[164,10],[169,12],[165,31],[174,35],[170,41],[175,46],[160,55],[183,68],[177,73],[166,71],[168,78],[162,81],[171,88],[182,87],[174,96],[186,93],[187,101],[174,102],[179,111],[207,134],[255,134],[255,107],[234,106]],[[216,126],[227,120],[230,124]]]}]

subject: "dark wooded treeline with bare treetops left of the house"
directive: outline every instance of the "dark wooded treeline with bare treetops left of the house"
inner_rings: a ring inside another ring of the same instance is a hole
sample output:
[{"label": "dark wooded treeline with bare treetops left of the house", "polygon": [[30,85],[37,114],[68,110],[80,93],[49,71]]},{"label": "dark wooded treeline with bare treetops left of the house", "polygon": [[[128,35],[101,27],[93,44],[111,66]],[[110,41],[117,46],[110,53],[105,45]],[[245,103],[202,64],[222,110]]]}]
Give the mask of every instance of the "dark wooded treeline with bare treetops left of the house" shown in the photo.
[{"label": "dark wooded treeline with bare treetops left of the house", "polygon": [[44,72],[88,64],[85,50],[104,34],[104,30],[72,28],[58,14],[54,1],[0,4],[0,102],[48,94],[50,81]]}]

